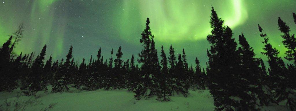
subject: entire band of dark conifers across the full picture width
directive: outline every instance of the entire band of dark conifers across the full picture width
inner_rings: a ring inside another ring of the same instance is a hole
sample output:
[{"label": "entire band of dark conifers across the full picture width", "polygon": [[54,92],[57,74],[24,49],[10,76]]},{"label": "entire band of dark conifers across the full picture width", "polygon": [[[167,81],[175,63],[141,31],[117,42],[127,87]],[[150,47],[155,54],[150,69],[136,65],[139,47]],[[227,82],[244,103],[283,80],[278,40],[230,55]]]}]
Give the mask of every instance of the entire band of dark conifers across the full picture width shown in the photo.
[{"label": "entire band of dark conifers across the full picture width", "polygon": [[[296,24],[295,13],[293,17]],[[143,49],[137,61],[141,66],[135,64],[133,54],[124,61],[121,47],[114,57],[112,49],[108,59],[103,58],[100,48],[94,58],[91,56],[88,62],[83,58],[80,64],[74,63],[72,46],[65,60],[53,61],[50,56],[44,63],[46,45],[36,58],[33,53],[12,57],[15,41],[19,39],[18,35],[10,36],[0,49],[0,91],[20,87],[29,96],[37,91],[47,92],[48,85],[52,86],[52,93],[66,92],[69,87],[87,91],[126,88],[135,93],[137,100],[157,96],[158,101],[170,101],[169,96],[187,97],[189,89],[209,89],[216,111],[259,111],[263,106],[284,100],[291,110],[296,110],[296,39],[280,17],[278,26],[288,49],[284,58],[293,64],[283,62],[279,51],[268,42],[269,38],[258,25],[258,36],[264,44],[261,54],[268,58],[267,69],[263,60],[255,57],[243,33],[239,35],[239,43],[235,41],[231,28],[224,25],[213,7],[206,69],[200,67],[197,58],[197,66],[189,67],[184,49],[182,54],[175,55],[172,45],[168,56],[162,46],[158,58],[149,23],[147,18],[140,38]]]}]

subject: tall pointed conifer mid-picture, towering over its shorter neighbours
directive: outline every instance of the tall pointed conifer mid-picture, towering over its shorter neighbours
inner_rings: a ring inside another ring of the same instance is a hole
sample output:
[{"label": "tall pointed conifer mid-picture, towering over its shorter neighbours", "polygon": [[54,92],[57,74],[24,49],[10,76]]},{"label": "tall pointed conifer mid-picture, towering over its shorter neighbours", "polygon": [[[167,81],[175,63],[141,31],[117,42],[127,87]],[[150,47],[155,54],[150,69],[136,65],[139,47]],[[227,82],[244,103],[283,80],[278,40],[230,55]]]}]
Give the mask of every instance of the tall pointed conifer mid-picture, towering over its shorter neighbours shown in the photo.
[{"label": "tall pointed conifer mid-picture, towering over its shorter neighbours", "polygon": [[155,47],[152,47],[152,40],[154,36],[151,33],[150,30],[150,21],[149,18],[146,20],[146,28],[142,32],[142,37],[140,39],[140,42],[142,43],[142,46],[144,49],[139,53],[140,59],[138,59],[139,63],[142,63],[141,66],[141,75],[139,83],[136,87],[136,90],[134,91],[136,93],[135,98],[137,100],[141,98],[147,98],[151,97],[152,95],[156,94],[156,88],[157,84],[157,71],[159,70],[159,67],[156,66],[156,60],[158,60],[157,57],[155,57],[155,54],[157,56],[157,52],[155,50]]}]

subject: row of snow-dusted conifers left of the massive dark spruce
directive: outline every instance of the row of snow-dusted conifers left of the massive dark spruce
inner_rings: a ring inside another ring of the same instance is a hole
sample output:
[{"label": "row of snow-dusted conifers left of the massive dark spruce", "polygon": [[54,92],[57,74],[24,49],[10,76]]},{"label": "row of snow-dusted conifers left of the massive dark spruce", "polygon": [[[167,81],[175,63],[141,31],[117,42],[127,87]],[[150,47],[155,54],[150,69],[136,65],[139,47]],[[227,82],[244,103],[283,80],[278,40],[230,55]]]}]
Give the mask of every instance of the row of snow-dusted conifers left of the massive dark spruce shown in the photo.
[{"label": "row of snow-dusted conifers left of the massive dark spruce", "polygon": [[[80,64],[75,64],[73,47],[70,46],[66,59],[53,61],[50,55],[45,61],[46,45],[37,57],[34,57],[33,52],[13,57],[14,38],[10,36],[1,47],[0,91],[12,91],[20,87],[25,95],[31,96],[38,91],[47,92],[48,85],[52,86],[52,93],[66,92],[69,87],[87,91],[124,88],[135,92],[137,99],[157,95],[159,101],[169,101],[168,96],[187,96],[189,89],[206,89],[205,70],[200,67],[197,58],[197,67],[189,67],[184,49],[182,54],[176,56],[171,45],[167,57],[162,46],[159,62],[148,18],[140,39],[144,49],[139,53],[138,60],[132,54],[131,59],[124,61],[121,47],[116,54],[112,49],[111,57],[104,59],[102,49],[99,48],[96,56],[91,55],[89,60],[83,58]],[[142,65],[139,67],[136,61]]]}]

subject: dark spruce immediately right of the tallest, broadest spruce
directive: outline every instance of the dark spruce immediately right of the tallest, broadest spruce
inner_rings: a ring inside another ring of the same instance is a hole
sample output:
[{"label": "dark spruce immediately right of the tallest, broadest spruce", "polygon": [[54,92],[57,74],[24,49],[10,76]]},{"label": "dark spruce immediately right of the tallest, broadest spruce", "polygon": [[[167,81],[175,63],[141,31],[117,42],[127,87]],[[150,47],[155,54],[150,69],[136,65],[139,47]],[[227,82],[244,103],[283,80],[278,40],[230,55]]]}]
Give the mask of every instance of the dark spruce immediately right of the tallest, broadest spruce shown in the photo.
[{"label": "dark spruce immediately right of the tallest, broadest spruce", "polygon": [[[275,103],[267,75],[259,67],[260,61],[255,58],[254,49],[250,47],[244,35],[239,35],[240,57],[242,58],[242,77],[247,79],[245,84],[248,84],[247,89],[251,91],[250,95],[260,100],[260,105],[268,105]],[[265,66],[264,66],[265,68]]]}]

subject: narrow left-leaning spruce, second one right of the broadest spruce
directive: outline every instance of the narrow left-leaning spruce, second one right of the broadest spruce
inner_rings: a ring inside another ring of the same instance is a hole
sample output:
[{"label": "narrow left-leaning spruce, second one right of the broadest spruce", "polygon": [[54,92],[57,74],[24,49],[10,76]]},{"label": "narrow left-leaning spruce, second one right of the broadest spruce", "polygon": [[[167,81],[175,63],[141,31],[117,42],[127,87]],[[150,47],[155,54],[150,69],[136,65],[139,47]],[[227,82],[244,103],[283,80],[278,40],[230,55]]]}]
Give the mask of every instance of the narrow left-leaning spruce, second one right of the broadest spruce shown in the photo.
[{"label": "narrow left-leaning spruce, second one right of the broadest spruce", "polygon": [[263,50],[265,52],[261,52],[261,54],[266,55],[268,57],[268,63],[270,69],[268,70],[269,75],[271,76],[271,84],[272,89],[275,90],[275,98],[276,102],[281,102],[287,99],[286,105],[291,109],[296,109],[296,93],[292,90],[292,84],[289,82],[289,77],[287,76],[288,70],[285,67],[283,60],[278,57],[279,51],[275,49],[271,44],[268,43],[268,37],[266,33],[263,34],[262,28],[258,25],[259,32],[261,32],[260,36],[263,37],[265,47]]}]

